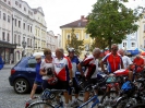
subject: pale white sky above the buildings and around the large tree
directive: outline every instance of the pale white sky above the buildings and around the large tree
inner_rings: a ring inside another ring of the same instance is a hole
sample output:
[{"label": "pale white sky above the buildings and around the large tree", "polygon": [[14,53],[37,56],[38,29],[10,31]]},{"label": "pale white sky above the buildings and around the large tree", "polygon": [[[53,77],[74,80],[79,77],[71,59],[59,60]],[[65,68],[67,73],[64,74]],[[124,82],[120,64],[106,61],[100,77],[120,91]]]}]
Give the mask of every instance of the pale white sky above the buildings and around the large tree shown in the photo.
[{"label": "pale white sky above the buildings and around the large tree", "polygon": [[[81,15],[88,15],[92,12],[93,4],[97,0],[23,0],[34,9],[41,7],[45,21],[47,23],[47,32],[52,31],[55,35],[60,34],[60,26],[77,21]],[[129,0],[125,3],[129,8],[137,5],[145,7],[145,0]]]}]

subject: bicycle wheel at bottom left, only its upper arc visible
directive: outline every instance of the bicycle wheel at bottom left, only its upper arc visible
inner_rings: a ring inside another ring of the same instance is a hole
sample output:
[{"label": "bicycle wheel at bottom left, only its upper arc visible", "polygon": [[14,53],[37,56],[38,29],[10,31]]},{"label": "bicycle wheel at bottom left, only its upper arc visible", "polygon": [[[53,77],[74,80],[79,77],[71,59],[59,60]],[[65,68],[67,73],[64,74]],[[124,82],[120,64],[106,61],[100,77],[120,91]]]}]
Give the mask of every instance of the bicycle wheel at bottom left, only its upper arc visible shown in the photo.
[{"label": "bicycle wheel at bottom left, only its upper arc visible", "polygon": [[36,101],[31,104],[27,108],[55,108],[55,107],[46,101]]}]

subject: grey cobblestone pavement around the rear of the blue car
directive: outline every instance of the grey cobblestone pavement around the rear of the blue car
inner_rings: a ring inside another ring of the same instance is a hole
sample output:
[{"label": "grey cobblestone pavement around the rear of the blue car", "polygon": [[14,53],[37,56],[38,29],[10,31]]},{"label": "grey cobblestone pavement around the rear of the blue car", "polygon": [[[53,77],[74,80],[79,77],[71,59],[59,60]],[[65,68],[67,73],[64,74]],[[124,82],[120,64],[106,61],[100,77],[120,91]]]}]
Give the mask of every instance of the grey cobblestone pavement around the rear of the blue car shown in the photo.
[{"label": "grey cobblestone pavement around the rear of the blue car", "polygon": [[[11,68],[11,67],[10,67]],[[0,70],[0,108],[24,108],[29,94],[16,94],[9,84],[10,68]]]}]

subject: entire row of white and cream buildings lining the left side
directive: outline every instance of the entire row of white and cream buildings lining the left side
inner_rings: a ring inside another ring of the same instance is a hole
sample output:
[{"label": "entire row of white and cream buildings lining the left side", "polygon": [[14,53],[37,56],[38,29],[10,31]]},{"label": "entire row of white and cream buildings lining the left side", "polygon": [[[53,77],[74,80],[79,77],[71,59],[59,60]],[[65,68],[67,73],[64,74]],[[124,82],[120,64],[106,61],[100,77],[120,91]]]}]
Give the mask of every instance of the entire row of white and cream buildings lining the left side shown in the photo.
[{"label": "entire row of white and cream buildings lining the left side", "polygon": [[0,56],[7,63],[20,61],[23,52],[32,56],[47,47],[55,51],[60,41],[51,31],[47,33],[43,9],[32,9],[22,0],[0,0]]}]

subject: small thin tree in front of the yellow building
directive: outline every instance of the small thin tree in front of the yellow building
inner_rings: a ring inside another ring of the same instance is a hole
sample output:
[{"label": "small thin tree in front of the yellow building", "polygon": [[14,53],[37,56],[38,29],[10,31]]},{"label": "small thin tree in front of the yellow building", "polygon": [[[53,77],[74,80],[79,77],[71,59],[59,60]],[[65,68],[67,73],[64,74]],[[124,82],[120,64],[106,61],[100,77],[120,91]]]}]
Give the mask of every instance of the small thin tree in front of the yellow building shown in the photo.
[{"label": "small thin tree in front of the yellow building", "polygon": [[68,39],[67,49],[73,47],[75,49],[75,53],[80,56],[82,50],[84,50],[84,40],[78,40],[76,35],[74,34],[74,29],[72,28],[71,32],[71,39]]}]

